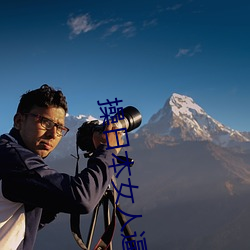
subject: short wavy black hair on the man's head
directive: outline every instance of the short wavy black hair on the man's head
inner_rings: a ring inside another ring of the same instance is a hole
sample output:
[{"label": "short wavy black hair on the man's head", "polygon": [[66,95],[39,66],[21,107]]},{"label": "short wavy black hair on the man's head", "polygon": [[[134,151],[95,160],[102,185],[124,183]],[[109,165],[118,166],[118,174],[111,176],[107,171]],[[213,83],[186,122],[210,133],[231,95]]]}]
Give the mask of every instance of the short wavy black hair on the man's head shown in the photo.
[{"label": "short wavy black hair on the man's head", "polygon": [[40,88],[29,90],[21,96],[17,107],[17,113],[28,113],[34,107],[61,107],[68,112],[66,97],[61,90],[55,90],[47,84],[43,84]]}]

